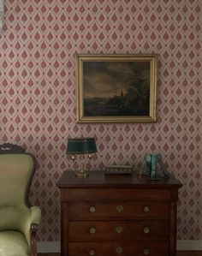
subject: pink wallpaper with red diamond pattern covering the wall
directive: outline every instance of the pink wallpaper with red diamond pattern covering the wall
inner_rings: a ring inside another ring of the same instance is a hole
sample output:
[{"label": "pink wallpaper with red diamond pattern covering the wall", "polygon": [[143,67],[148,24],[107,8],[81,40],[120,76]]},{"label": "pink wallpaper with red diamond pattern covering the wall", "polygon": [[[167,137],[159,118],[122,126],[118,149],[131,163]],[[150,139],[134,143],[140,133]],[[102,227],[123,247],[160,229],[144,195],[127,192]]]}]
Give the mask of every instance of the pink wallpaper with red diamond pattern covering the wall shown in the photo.
[{"label": "pink wallpaper with red diamond pattern covering the wall", "polygon": [[[178,239],[202,239],[200,0],[6,0],[0,37],[0,140],[26,146],[39,168],[32,203],[40,241],[60,239],[56,181],[71,167],[68,136],[95,136],[92,168],[138,166],[161,152],[183,183]],[[77,124],[76,53],[157,53],[157,123]]]}]

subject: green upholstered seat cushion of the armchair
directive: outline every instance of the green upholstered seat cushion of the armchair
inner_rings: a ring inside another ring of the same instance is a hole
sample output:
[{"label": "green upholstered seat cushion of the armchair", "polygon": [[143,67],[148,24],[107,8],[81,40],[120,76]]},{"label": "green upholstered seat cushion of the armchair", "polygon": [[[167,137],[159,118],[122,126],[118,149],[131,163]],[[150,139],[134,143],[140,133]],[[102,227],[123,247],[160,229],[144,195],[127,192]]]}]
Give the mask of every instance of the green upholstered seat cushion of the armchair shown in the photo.
[{"label": "green upholstered seat cushion of the armchair", "polygon": [[29,247],[25,236],[18,231],[0,232],[1,256],[28,256]]}]

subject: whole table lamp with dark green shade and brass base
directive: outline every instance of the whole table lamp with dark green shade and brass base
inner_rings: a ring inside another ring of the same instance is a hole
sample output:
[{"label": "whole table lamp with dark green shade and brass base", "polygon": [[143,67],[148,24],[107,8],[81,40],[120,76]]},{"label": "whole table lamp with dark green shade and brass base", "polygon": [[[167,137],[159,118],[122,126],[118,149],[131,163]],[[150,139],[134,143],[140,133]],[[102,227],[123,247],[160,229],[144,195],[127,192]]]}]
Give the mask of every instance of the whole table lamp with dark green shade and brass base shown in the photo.
[{"label": "whole table lamp with dark green shade and brass base", "polygon": [[[74,161],[74,165],[77,166],[75,175],[79,177],[88,176],[89,172],[86,170],[85,158],[87,155],[88,160],[91,160],[92,154],[97,152],[97,146],[94,138],[72,138],[68,139],[67,154],[71,154],[71,159]],[[77,163],[76,155],[80,155],[80,163]]]}]

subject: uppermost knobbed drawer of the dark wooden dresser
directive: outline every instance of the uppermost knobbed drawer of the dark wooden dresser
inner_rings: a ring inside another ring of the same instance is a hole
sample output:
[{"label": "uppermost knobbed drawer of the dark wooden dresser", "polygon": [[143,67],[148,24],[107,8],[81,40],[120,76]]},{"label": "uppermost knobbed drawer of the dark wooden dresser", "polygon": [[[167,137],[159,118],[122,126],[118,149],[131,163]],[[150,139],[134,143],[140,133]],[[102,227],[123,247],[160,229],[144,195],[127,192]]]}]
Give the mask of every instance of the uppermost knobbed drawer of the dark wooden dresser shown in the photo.
[{"label": "uppermost knobbed drawer of the dark wooden dresser", "polygon": [[68,204],[69,220],[169,219],[165,202],[75,202]]}]

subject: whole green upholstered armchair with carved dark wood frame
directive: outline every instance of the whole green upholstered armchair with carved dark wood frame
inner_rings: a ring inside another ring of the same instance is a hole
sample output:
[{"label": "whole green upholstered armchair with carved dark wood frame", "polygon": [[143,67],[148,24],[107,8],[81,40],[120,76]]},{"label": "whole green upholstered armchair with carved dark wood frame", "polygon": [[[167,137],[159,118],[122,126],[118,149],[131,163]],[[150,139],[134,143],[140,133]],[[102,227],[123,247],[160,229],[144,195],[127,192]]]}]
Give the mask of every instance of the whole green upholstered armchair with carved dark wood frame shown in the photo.
[{"label": "whole green upholstered armchair with carved dark wood frame", "polygon": [[0,256],[36,256],[41,212],[28,204],[35,159],[12,149],[0,146]]}]

